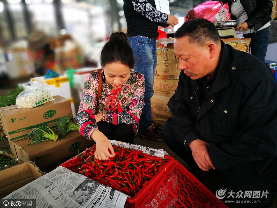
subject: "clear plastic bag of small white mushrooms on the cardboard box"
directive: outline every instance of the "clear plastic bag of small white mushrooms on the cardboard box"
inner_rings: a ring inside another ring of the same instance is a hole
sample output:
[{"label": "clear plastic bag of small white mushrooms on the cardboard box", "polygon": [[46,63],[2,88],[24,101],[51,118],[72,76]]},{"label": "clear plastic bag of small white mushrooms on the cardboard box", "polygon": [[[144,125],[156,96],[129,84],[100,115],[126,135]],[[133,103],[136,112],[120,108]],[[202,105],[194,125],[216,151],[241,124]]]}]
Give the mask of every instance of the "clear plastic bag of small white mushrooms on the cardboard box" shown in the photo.
[{"label": "clear plastic bag of small white mushrooms on the cardboard box", "polygon": [[17,96],[16,104],[21,108],[34,108],[52,100],[49,85],[41,80],[35,80],[31,86]]}]

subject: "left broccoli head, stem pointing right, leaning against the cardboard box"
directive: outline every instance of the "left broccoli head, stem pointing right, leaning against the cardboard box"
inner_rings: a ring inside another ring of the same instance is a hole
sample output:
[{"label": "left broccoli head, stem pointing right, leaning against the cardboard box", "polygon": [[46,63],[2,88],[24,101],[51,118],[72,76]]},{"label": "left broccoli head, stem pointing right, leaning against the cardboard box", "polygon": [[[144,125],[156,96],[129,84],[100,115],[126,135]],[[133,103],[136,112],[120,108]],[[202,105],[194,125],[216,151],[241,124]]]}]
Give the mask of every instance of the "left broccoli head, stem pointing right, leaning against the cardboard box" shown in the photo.
[{"label": "left broccoli head, stem pointing right, leaning against the cardboard box", "polygon": [[[31,138],[31,136],[34,136],[34,139]],[[45,141],[48,139],[57,141],[58,136],[46,125],[38,126],[34,128],[28,135],[27,138],[31,141],[34,141],[34,143],[31,144],[37,144],[38,142]]]}]

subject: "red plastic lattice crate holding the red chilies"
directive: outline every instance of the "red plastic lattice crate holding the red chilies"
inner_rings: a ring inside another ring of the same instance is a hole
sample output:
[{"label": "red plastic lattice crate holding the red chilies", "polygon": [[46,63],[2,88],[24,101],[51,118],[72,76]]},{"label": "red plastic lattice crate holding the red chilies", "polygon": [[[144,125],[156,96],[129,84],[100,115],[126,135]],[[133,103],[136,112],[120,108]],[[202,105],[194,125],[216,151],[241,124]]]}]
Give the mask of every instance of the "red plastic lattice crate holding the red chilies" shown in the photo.
[{"label": "red plastic lattice crate holding the red chilies", "polygon": [[[164,157],[169,161],[134,197],[127,198],[124,208],[228,208],[177,160]],[[66,162],[74,160],[79,160],[78,155]]]}]

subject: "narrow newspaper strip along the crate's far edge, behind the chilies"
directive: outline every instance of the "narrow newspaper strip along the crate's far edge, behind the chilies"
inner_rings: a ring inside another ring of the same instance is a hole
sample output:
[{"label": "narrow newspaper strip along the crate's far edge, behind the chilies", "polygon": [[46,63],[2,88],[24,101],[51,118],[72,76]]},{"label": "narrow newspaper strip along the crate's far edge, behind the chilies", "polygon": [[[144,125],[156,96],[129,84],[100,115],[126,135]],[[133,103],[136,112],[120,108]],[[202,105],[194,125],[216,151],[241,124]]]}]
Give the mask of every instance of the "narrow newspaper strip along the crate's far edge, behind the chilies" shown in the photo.
[{"label": "narrow newspaper strip along the crate's far edge, behind the chilies", "polygon": [[164,155],[168,155],[168,153],[166,151],[164,151],[163,149],[153,149],[153,148],[141,146],[138,144],[129,144],[129,143],[126,143],[123,141],[116,141],[116,140],[109,140],[109,141],[111,142],[112,145],[117,145],[117,146],[124,147],[127,149],[143,151],[143,153],[145,153],[145,154],[153,155],[153,156],[160,157],[160,158],[164,158]]}]

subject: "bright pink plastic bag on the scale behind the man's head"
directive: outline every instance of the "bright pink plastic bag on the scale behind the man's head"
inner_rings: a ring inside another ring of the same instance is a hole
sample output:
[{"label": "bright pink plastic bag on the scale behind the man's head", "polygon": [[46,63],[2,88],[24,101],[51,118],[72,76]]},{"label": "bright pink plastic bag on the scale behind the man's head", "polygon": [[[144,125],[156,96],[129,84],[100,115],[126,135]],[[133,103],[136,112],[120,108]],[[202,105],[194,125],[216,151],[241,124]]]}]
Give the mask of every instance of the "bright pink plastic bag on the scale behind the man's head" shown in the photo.
[{"label": "bright pink plastic bag on the scale behind the man's head", "polygon": [[210,22],[215,22],[215,15],[218,13],[223,3],[219,1],[207,1],[204,2],[191,11],[185,16],[185,21],[192,20],[194,18],[204,18]]}]

